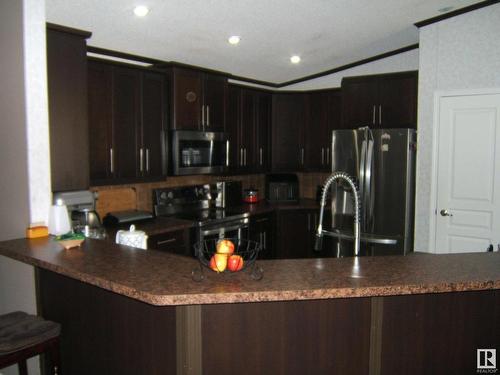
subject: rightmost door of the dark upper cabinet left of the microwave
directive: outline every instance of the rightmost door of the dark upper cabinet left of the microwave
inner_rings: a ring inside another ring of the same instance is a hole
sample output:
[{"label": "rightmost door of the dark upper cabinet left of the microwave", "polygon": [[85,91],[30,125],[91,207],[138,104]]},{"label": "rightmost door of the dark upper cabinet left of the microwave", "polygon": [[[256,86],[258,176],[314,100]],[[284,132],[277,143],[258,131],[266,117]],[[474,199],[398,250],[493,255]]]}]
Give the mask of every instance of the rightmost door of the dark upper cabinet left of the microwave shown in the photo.
[{"label": "rightmost door of the dark upper cabinet left of the microwave", "polygon": [[141,86],[142,175],[159,177],[165,175],[167,169],[164,158],[166,154],[165,77],[159,73],[143,73]]}]

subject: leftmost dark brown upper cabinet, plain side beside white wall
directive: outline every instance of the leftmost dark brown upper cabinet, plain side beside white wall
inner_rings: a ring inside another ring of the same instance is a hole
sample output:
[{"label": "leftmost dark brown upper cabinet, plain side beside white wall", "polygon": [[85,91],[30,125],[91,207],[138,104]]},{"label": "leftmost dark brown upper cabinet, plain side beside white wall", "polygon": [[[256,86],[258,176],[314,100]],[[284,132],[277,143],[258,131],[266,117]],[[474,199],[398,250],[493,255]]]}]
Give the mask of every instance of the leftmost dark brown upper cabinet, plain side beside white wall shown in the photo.
[{"label": "leftmost dark brown upper cabinet, plain side beside white wall", "polygon": [[52,191],[89,187],[86,39],[90,35],[47,24]]}]

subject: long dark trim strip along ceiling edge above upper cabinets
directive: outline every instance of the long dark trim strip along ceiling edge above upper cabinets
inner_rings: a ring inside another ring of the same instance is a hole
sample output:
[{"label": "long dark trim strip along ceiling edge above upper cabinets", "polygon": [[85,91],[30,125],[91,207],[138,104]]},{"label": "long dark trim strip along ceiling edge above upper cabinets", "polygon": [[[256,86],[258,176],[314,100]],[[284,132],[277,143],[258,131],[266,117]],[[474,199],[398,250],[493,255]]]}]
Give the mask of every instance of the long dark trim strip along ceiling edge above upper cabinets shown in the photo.
[{"label": "long dark trim strip along ceiling edge above upper cabinets", "polygon": [[[497,1],[500,1],[500,0],[497,0]],[[161,61],[161,60],[151,59],[149,57],[144,57],[144,56],[139,56],[139,55],[133,55],[133,54],[125,53],[125,52],[113,51],[113,50],[109,50],[109,49],[105,49],[105,48],[100,48],[100,47],[88,46],[87,47],[87,51],[88,52],[92,52],[92,53],[97,53],[97,54],[100,54],[100,55],[106,55],[106,56],[118,57],[118,58],[121,58],[121,59],[127,59],[127,60],[132,60],[132,61],[150,63],[150,64],[154,65],[153,68],[156,68],[156,69],[167,69],[167,68],[193,69],[193,70],[198,70],[198,71],[201,71],[201,72],[204,72],[204,73],[209,73],[209,74],[224,76],[224,77],[226,77],[228,79],[232,79],[232,80],[235,80],[235,81],[248,82],[248,83],[253,83],[253,84],[256,84],[256,85],[267,86],[267,87],[271,87],[271,88],[277,89],[277,88],[289,86],[289,85],[292,85],[292,84],[295,84],[295,83],[309,81],[309,80],[314,79],[314,78],[320,78],[320,77],[323,77],[323,76],[326,76],[326,75],[329,75],[329,74],[338,73],[338,72],[340,72],[342,70],[354,68],[356,66],[367,64],[367,63],[370,63],[370,62],[373,62],[373,61],[376,61],[376,60],[385,59],[387,57],[391,57],[391,56],[394,56],[394,55],[398,55],[400,53],[411,51],[411,50],[416,49],[416,48],[418,48],[418,43],[412,44],[412,45],[409,45],[409,46],[406,46],[406,47],[398,48],[398,49],[395,49],[395,50],[392,50],[392,51],[384,52],[384,53],[381,53],[379,55],[368,57],[366,59],[354,61],[352,63],[341,65],[341,66],[338,66],[336,68],[325,70],[325,71],[322,71],[322,72],[319,72],[319,73],[315,73],[315,74],[311,74],[311,75],[308,75],[308,76],[304,76],[304,77],[297,78],[297,79],[294,79],[294,80],[291,80],[291,81],[282,82],[282,83],[274,83],[274,82],[269,82],[269,81],[261,81],[261,80],[258,80],[258,79],[253,79],[253,78],[248,78],[248,77],[243,77],[243,76],[237,76],[237,75],[233,75],[233,74],[230,74],[230,73],[221,72],[221,71],[218,71],[218,70],[207,69],[207,68],[203,68],[203,67],[196,66],[196,65],[183,64],[183,63],[179,63],[179,62],[176,62],[176,61],[170,61],[170,62],[168,62],[168,61]],[[231,84],[238,85],[238,83],[231,83]],[[244,86],[244,85],[241,85],[241,86]],[[255,88],[255,89],[258,90],[259,88]],[[265,89],[263,89],[263,90],[265,90]],[[279,91],[279,92],[281,92],[281,91]],[[293,91],[291,91],[291,92],[293,92]]]}]

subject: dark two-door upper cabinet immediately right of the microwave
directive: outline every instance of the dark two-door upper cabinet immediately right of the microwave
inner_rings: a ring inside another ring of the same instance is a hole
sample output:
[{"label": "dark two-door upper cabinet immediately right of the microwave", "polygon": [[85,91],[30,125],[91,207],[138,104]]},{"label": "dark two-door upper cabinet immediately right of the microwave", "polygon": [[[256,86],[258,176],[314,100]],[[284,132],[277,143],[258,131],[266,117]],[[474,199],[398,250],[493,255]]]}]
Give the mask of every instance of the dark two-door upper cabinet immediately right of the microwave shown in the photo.
[{"label": "dark two-door upper cabinet immediately right of the microwave", "polygon": [[269,170],[271,95],[229,86],[226,129],[233,173]]}]

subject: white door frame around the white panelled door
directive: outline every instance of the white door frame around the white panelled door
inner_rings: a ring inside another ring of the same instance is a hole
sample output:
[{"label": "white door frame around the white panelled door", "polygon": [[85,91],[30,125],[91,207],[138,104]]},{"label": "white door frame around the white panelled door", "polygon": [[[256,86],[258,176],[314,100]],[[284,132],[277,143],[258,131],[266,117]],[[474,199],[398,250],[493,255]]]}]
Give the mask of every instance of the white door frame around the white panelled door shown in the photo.
[{"label": "white door frame around the white panelled door", "polygon": [[[432,160],[431,160],[431,191],[430,191],[430,217],[429,217],[429,252],[436,253],[436,216],[438,199],[438,165],[439,165],[439,118],[441,115],[441,99],[455,96],[473,96],[473,95],[497,95],[500,94],[498,88],[474,88],[460,90],[439,90],[434,92],[434,113],[432,118]],[[418,130],[418,128],[417,128]]]}]

